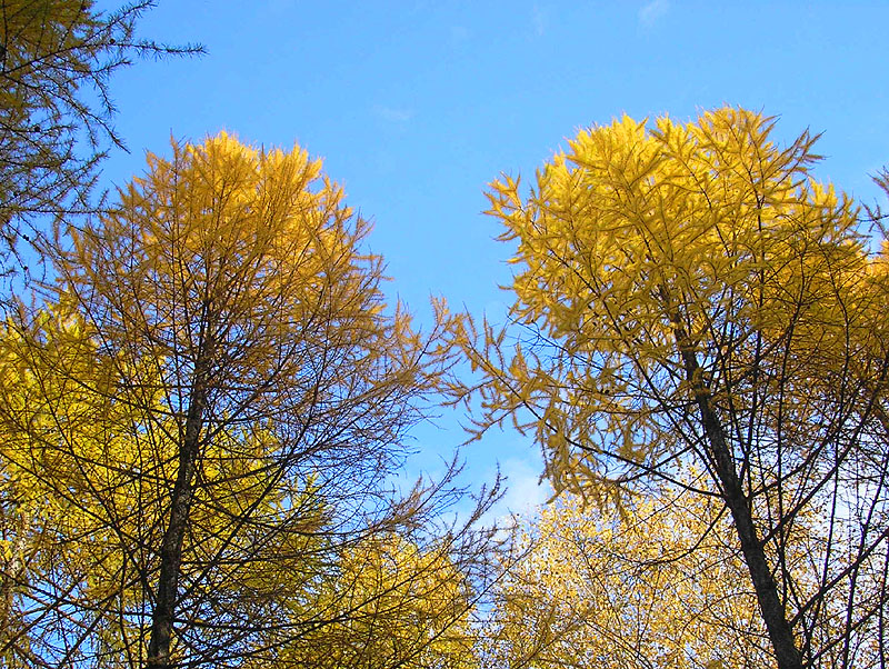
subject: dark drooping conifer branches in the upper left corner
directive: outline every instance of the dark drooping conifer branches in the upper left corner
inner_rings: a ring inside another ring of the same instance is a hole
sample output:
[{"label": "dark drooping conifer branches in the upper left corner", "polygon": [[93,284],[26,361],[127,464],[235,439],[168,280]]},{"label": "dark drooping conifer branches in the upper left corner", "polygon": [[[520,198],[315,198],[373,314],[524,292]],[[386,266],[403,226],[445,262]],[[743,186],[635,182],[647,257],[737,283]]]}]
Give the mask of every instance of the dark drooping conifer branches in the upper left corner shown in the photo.
[{"label": "dark drooping conifer branches in the upper left corner", "polygon": [[[22,224],[94,209],[90,191],[113,128],[111,74],[144,56],[200,53],[134,37],[151,0],[106,13],[92,0],[0,0],[0,232],[4,273]],[[70,218],[69,218],[69,222]]]}]

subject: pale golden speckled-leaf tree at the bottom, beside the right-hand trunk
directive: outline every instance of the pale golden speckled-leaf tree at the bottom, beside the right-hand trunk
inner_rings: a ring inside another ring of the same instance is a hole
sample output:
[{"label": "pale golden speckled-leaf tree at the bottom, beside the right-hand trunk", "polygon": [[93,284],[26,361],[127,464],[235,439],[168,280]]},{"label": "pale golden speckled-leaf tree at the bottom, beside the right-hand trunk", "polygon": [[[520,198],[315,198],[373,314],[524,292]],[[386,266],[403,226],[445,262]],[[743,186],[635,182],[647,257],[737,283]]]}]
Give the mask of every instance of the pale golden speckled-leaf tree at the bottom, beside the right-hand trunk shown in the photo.
[{"label": "pale golden speckled-leaf tree at the bottom, beside the right-hand trunk", "polygon": [[683,490],[622,512],[563,496],[523,521],[498,587],[490,667],[762,667],[768,638],[719,505]]}]

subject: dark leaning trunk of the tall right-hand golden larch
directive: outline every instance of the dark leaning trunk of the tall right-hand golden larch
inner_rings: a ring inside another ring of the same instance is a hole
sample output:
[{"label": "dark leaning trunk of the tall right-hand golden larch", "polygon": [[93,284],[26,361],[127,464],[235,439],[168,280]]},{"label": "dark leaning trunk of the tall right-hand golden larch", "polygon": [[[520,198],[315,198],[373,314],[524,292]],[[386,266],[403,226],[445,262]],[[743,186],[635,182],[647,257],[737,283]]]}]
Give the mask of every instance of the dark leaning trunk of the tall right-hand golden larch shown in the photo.
[{"label": "dark leaning trunk of the tall right-hand golden larch", "polygon": [[[676,324],[677,321],[675,321]],[[688,346],[688,339],[681,327],[677,327],[676,338],[682,356],[686,378],[695,391],[695,399],[700,410],[707,442],[710,446],[710,455],[713,459],[717,477],[719,477],[719,482],[722,486],[722,496],[726,500],[726,506],[731,512],[735,529],[738,532],[741,551],[750,571],[759,609],[769,632],[778,667],[779,669],[801,669],[802,657],[793,640],[793,632],[787,620],[787,611],[778,597],[778,586],[769,569],[766,550],[757,536],[750,500],[741,488],[741,481],[738,478],[735,460],[726,441],[722,423],[710,402],[710,390],[703,382],[698,359],[695,351]]]}]

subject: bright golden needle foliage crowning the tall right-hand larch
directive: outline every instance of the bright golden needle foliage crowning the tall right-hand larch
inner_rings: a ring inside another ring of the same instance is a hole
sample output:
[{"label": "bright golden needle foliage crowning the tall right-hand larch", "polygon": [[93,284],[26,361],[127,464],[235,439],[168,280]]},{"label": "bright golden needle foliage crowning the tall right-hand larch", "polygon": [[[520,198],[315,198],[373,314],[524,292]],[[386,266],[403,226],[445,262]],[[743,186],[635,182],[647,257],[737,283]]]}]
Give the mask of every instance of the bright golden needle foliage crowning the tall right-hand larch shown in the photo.
[{"label": "bright golden needle foliage crowning the tall right-hand larch", "polygon": [[506,350],[487,324],[457,337],[486,376],[481,429],[522,413],[549,476],[576,488],[602,480],[607,453],[648,466],[673,450],[663,407],[693,400],[678,340],[703,382],[735,385],[757,333],[776,341],[792,320],[839,337],[866,257],[858,210],[809,178],[817,138],[780,148],[772,129],[736,108],[688,123],[625,116],[579,132],[530,189],[491,184],[488,213],[518,242],[511,316],[527,331]]}]

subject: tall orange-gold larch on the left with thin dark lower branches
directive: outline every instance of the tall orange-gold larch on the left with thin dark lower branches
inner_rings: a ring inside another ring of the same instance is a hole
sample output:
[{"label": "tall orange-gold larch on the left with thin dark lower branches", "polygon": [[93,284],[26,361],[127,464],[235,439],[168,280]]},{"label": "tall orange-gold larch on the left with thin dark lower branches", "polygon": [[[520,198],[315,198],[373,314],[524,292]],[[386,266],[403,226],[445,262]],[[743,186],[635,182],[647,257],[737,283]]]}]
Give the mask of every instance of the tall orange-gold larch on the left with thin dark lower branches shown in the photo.
[{"label": "tall orange-gold larch on the left with thin dark lower branches", "polygon": [[[50,304],[2,339],[0,453],[22,522],[6,529],[0,652],[276,666],[328,636],[367,646],[353,621],[369,609],[390,627],[426,612],[410,657],[463,625],[491,537],[470,526],[491,498],[442,530],[448,477],[392,489],[447,367],[447,316],[422,336],[386,309],[368,232],[320,161],[221,133],[149,156],[58,251]],[[394,536],[394,580],[351,576]]]}]

